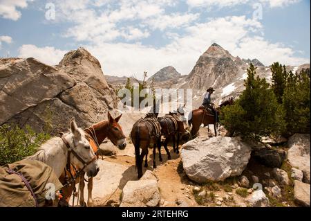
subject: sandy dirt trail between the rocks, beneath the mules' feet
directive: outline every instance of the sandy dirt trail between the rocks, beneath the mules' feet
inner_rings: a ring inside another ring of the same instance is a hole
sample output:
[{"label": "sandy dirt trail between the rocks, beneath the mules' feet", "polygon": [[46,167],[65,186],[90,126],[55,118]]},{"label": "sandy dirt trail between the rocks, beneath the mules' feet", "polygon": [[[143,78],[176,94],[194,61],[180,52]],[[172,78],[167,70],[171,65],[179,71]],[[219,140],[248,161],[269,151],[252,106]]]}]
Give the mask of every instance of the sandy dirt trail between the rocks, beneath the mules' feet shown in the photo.
[{"label": "sandy dirt trail between the rocks, beneath the mules' feet", "polygon": [[[124,152],[117,152],[116,157],[105,157],[105,161],[109,161],[111,163],[118,163],[124,166],[134,166],[135,165],[135,157],[132,152],[134,152],[134,147],[132,143],[129,143],[126,146],[126,154]],[[131,151],[133,150],[133,151]],[[143,167],[143,173],[148,169],[153,171],[159,179],[159,188],[162,196],[161,205],[160,206],[198,206],[196,201],[194,200],[193,195],[191,195],[191,186],[189,184],[193,184],[187,178],[187,175],[183,173],[182,166],[180,165],[180,154],[176,154],[173,152],[173,148],[169,146],[169,150],[171,150],[171,159],[167,159],[167,153],[164,148],[161,148],[161,154],[163,161],[160,162],[158,159],[158,151],[156,152],[156,165],[157,168],[153,169],[153,154],[152,150],[149,150],[148,156],[148,168]],[[131,156],[129,156],[131,155]],[[131,170],[130,177],[131,180],[137,179],[137,171]],[[109,200],[113,202],[117,202],[120,199],[120,194],[122,190],[117,190]],[[106,200],[105,200],[106,201]],[[102,205],[104,206],[104,205]]]}]

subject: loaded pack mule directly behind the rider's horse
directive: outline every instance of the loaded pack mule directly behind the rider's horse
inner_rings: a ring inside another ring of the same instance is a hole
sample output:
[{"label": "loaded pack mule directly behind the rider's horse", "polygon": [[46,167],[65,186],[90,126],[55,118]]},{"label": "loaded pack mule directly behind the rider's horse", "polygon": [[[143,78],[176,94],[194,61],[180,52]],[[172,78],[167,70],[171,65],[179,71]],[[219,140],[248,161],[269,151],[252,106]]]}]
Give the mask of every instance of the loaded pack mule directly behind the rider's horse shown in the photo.
[{"label": "loaded pack mule directly behind the rider's horse", "polygon": [[[183,107],[185,107],[185,105],[183,105]],[[165,116],[158,118],[158,121],[161,125],[162,135],[165,137],[163,146],[165,151],[167,152],[168,159],[171,159],[171,154],[167,149],[167,144],[172,139],[173,151],[179,154],[178,148],[179,148],[180,134],[184,134],[186,132],[185,125],[181,119],[185,113],[183,107],[180,106],[178,107],[176,112],[169,112],[169,114],[166,114]],[[176,135],[177,135],[177,146],[175,147]],[[159,152],[159,154],[161,154],[161,152]]]}]

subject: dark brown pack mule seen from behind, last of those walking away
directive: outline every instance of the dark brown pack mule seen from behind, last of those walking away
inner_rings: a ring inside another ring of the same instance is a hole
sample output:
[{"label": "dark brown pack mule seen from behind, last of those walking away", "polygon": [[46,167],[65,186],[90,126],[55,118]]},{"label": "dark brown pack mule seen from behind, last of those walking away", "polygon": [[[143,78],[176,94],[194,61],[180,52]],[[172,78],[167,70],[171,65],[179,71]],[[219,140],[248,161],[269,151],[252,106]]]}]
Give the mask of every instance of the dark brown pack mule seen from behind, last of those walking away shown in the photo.
[{"label": "dark brown pack mule seen from behind, last of those walking away", "polygon": [[[135,147],[135,165],[138,168],[138,179],[142,177],[142,161],[146,157],[144,167],[148,167],[148,148],[153,148],[153,168],[156,168],[156,147],[161,148],[161,126],[157,121],[158,114],[148,113],[136,121],[131,130],[131,139]],[[140,154],[140,148],[142,153]],[[162,157],[159,154],[159,159]]]}]

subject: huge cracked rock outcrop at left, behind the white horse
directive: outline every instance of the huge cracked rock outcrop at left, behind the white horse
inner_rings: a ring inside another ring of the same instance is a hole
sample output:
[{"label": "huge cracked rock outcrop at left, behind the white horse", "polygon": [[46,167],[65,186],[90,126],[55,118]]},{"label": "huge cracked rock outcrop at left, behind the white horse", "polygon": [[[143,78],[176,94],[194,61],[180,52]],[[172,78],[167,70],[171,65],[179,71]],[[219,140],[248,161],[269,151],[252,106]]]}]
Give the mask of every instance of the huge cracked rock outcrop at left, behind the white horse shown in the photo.
[{"label": "huge cracked rock outcrop at left, behind the white horse", "polygon": [[103,121],[117,100],[100,62],[84,48],[54,67],[34,58],[0,59],[0,125],[28,124],[37,132],[47,126],[57,134],[68,130],[72,116],[80,127]]}]

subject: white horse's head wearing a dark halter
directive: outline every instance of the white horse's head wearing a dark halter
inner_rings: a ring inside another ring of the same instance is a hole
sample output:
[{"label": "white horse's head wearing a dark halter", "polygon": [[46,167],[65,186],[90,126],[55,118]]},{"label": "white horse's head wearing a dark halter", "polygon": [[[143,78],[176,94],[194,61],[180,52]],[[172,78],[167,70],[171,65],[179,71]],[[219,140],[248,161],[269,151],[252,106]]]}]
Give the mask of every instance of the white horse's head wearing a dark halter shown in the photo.
[{"label": "white horse's head wearing a dark halter", "polygon": [[70,161],[80,170],[83,169],[88,177],[95,177],[100,171],[97,157],[86,138],[84,130],[77,127],[75,118],[70,121],[70,131],[72,139],[66,139],[73,152],[73,154],[70,154]]}]

